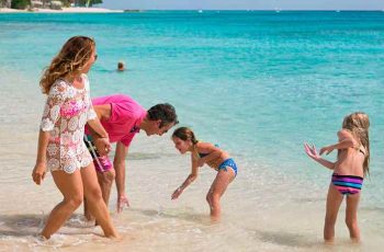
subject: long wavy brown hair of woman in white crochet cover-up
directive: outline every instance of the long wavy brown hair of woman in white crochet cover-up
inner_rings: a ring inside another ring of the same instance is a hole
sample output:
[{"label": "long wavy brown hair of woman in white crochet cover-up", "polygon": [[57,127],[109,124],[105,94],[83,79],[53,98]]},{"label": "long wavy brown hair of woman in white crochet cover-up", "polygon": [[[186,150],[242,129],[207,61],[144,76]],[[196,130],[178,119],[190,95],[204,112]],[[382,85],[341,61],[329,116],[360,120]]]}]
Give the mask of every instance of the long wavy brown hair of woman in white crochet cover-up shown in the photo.
[{"label": "long wavy brown hair of woman in white crochet cover-up", "polygon": [[86,36],[75,36],[64,44],[61,50],[52,60],[49,67],[43,71],[39,87],[44,94],[48,94],[50,87],[57,79],[81,75],[83,66],[91,58],[95,43]]}]

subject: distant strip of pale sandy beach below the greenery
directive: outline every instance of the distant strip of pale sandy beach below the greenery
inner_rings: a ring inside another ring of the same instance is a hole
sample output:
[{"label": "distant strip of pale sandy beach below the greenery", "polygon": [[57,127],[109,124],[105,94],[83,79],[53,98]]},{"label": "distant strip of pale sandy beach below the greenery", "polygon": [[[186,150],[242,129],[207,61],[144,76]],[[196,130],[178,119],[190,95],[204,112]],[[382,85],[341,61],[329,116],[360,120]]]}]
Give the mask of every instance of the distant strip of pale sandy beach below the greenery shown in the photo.
[{"label": "distant strip of pale sandy beach below the greenery", "polygon": [[33,11],[27,10],[15,10],[9,8],[0,8],[0,13],[122,13],[123,10],[110,10],[104,8],[63,8],[63,10],[50,10],[50,9],[34,9]]}]

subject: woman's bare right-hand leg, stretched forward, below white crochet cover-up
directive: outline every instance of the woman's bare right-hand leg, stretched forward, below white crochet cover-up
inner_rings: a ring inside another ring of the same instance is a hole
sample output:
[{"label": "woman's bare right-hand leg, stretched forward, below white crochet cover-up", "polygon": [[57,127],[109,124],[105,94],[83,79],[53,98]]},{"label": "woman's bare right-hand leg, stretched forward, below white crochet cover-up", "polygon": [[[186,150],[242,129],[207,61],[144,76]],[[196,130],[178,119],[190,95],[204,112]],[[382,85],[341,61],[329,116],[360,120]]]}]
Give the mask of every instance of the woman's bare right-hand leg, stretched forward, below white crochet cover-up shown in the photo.
[{"label": "woman's bare right-hand leg, stretched forward, below white crochet cover-up", "polygon": [[112,224],[110,213],[103,201],[93,163],[81,169],[81,179],[89,210],[103,229],[105,237],[116,238],[117,232]]}]

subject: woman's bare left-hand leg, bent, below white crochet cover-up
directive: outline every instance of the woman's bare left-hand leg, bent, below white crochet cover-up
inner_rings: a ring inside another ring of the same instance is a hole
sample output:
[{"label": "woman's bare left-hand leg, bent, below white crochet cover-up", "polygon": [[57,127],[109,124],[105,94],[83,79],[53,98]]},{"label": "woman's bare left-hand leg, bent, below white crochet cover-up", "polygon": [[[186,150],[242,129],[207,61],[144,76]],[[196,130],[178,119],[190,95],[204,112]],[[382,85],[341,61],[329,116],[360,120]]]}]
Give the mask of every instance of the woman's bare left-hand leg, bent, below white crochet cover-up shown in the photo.
[{"label": "woman's bare left-hand leg, bent, below white crochet cover-up", "polygon": [[42,236],[46,239],[49,239],[64,225],[70,215],[81,205],[83,197],[79,170],[76,170],[72,174],[65,171],[54,171],[52,175],[64,199],[52,210],[42,231]]}]

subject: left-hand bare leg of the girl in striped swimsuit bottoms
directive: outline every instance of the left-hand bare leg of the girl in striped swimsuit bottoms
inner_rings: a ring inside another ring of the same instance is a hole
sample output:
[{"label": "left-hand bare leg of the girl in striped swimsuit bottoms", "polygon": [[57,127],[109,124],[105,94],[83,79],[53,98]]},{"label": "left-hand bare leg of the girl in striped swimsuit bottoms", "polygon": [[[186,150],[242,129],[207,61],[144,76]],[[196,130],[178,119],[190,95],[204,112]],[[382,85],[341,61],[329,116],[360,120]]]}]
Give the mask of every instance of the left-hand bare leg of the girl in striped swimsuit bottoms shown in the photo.
[{"label": "left-hand bare leg of the girl in striped swimsuit bottoms", "polygon": [[332,242],[335,239],[335,224],[342,203],[343,195],[330,184],[327,196],[327,213],[324,225],[324,241]]}]

